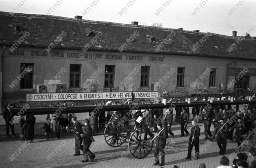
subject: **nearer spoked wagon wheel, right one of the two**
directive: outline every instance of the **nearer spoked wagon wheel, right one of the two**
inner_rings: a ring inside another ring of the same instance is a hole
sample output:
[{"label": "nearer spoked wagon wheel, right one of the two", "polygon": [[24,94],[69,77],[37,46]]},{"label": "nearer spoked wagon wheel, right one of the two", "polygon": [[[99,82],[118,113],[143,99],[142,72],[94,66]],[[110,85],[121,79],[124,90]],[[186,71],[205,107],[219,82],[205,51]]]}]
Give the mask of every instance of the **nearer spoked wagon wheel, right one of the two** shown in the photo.
[{"label": "nearer spoked wagon wheel, right one of the two", "polygon": [[154,141],[151,136],[154,135],[147,128],[139,128],[135,130],[129,139],[129,150],[133,157],[142,159],[150,154]]}]

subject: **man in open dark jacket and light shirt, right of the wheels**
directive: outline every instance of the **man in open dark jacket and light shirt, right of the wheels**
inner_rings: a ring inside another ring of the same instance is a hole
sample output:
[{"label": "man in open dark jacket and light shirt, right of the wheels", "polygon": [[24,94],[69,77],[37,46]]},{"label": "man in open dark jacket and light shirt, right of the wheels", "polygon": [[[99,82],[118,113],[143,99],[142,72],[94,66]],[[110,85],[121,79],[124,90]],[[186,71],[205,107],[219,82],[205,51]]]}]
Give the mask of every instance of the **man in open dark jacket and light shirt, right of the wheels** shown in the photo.
[{"label": "man in open dark jacket and light shirt, right of the wheels", "polygon": [[[196,126],[196,122],[194,120],[191,121],[192,123],[192,128],[191,128],[191,134],[189,137],[189,143],[188,143],[188,156],[186,159],[191,158],[191,152],[193,145],[195,146],[196,150],[196,159],[199,158],[199,136],[200,136],[200,128]],[[195,132],[195,134],[194,134]]]}]

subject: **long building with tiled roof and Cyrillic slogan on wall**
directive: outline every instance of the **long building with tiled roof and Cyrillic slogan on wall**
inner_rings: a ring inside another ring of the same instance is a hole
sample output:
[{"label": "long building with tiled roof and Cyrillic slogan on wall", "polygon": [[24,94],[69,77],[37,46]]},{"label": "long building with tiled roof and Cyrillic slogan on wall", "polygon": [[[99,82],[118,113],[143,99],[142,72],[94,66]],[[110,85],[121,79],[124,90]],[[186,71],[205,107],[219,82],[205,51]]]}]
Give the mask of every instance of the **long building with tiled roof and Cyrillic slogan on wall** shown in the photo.
[{"label": "long building with tiled roof and Cyrillic slogan on wall", "polygon": [[[256,87],[256,39],[249,34],[6,12],[0,12],[0,22],[4,102],[25,101],[27,93],[51,89],[162,93]],[[244,68],[246,73],[236,79]],[[235,85],[229,85],[234,79]],[[51,88],[46,88],[49,81]]]}]

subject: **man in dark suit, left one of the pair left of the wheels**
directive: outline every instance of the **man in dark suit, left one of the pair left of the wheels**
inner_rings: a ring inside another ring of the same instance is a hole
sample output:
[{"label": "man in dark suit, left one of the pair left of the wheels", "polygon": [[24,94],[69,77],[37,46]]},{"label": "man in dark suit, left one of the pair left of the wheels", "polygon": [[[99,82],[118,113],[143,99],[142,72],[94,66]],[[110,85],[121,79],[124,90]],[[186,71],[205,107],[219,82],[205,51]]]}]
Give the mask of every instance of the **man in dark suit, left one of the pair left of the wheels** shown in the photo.
[{"label": "man in dark suit, left one of the pair left of the wheels", "polygon": [[[80,150],[83,151],[82,144],[82,137],[80,134],[82,134],[82,125],[77,121],[77,116],[72,116],[72,122],[74,123],[74,132],[75,132],[75,154],[74,156],[80,155]],[[80,150],[79,150],[80,149]]]}]

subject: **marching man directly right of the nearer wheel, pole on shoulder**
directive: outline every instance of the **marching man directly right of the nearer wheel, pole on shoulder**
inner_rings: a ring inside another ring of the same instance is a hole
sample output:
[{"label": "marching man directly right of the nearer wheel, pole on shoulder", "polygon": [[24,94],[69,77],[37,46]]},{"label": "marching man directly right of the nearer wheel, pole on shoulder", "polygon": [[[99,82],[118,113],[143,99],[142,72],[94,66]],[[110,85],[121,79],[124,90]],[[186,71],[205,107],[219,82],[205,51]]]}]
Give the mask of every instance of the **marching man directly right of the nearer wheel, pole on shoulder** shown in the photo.
[{"label": "marching man directly right of the nearer wheel, pole on shoulder", "polygon": [[165,164],[164,148],[166,145],[166,131],[164,130],[162,123],[157,123],[157,128],[158,128],[157,135],[155,137],[154,165],[159,164],[158,154],[160,152],[161,163],[159,164],[159,166],[163,166]]}]

